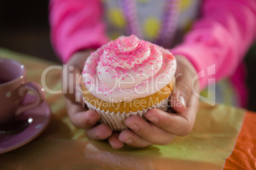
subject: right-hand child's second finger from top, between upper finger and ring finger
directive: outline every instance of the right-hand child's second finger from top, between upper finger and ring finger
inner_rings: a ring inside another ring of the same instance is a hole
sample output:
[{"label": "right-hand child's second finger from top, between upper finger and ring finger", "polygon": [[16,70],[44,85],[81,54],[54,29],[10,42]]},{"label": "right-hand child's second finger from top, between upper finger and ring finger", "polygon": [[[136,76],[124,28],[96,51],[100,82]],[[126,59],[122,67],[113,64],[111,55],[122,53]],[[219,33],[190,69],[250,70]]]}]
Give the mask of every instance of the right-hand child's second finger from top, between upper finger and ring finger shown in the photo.
[{"label": "right-hand child's second finger from top, between upper finger and ring finger", "polygon": [[155,124],[145,121],[139,116],[128,117],[125,124],[134,131],[134,133],[150,143],[166,145],[170,143],[174,137],[173,134],[155,126]]}]

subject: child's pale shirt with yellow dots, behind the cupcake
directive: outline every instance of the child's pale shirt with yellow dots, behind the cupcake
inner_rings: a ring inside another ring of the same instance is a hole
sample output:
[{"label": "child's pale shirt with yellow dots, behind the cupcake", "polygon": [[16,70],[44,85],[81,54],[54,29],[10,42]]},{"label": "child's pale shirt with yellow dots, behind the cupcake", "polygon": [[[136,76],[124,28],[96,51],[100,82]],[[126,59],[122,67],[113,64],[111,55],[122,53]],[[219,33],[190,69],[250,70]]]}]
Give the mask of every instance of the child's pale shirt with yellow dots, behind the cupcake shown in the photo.
[{"label": "child's pale shirt with yellow dots, behind the cupcake", "polygon": [[[125,7],[131,5],[131,2],[135,8],[130,8],[128,9],[129,11],[125,13]],[[175,3],[174,6],[178,7],[176,8],[176,13],[167,12],[168,8],[166,8],[166,6],[171,3]],[[190,28],[191,23],[197,17],[199,5],[200,0],[104,0],[104,21],[107,25],[106,30],[108,36],[111,39],[115,39],[118,36],[127,35],[127,29],[125,28],[127,28],[126,20],[129,20],[129,18],[125,16],[128,15],[130,18],[134,17],[138,23],[138,25],[134,25],[134,27],[138,27],[138,34],[141,33],[140,38],[151,42],[155,42],[155,40],[160,37],[159,32],[161,31],[165,31],[164,34],[166,34],[162,37],[168,39],[167,35],[171,33],[167,32],[170,32],[171,28],[170,30],[162,30],[162,28],[168,27],[172,22],[175,22],[175,44],[180,41],[180,37]],[[169,17],[171,17],[169,21],[165,22],[165,18]],[[136,32],[134,34],[136,34]],[[169,39],[171,40],[171,37],[169,37]]]}]

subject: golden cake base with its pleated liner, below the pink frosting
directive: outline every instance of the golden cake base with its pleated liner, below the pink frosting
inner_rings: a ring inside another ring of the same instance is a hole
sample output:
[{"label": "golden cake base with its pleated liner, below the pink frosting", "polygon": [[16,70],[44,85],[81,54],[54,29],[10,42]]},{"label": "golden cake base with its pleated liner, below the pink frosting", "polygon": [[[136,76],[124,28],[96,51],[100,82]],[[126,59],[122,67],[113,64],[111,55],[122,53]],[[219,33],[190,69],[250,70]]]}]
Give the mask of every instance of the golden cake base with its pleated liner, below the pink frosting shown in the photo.
[{"label": "golden cake base with its pleated liner, below the pink frosting", "polygon": [[[83,94],[83,101],[87,107],[101,115],[100,122],[107,124],[113,131],[122,131],[127,129],[125,120],[131,115],[139,115],[145,117],[148,110],[159,108],[167,110],[167,100],[173,92],[175,78],[153,95],[144,98],[138,98],[132,101],[122,101],[119,103],[109,103],[108,101],[100,100],[90,93]],[[81,87],[83,91],[87,91],[85,86]]]}]

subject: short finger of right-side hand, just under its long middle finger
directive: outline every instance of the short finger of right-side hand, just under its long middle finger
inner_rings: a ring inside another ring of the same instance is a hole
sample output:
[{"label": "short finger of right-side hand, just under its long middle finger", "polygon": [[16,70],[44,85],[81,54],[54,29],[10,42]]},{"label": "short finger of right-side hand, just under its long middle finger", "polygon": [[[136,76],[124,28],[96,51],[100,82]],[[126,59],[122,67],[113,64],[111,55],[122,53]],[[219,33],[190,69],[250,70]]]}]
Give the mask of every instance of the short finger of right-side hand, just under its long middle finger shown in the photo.
[{"label": "short finger of right-side hand, just under its long middle finger", "polygon": [[137,148],[145,148],[152,145],[152,143],[143,140],[143,138],[139,137],[138,134],[128,129],[125,129],[119,134],[118,140],[124,142],[126,145]]}]

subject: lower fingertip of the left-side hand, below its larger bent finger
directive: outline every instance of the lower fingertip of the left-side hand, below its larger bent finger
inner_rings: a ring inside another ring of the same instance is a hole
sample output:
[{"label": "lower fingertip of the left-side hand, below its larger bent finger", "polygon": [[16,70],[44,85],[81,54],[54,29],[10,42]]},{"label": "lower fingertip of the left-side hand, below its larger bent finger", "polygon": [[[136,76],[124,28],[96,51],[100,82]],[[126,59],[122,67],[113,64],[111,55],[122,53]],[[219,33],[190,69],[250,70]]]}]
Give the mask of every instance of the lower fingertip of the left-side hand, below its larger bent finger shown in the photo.
[{"label": "lower fingertip of the left-side hand, below its larger bent finger", "polygon": [[112,131],[106,124],[99,124],[98,126],[87,129],[86,134],[92,140],[106,140],[106,138],[111,136]]}]

